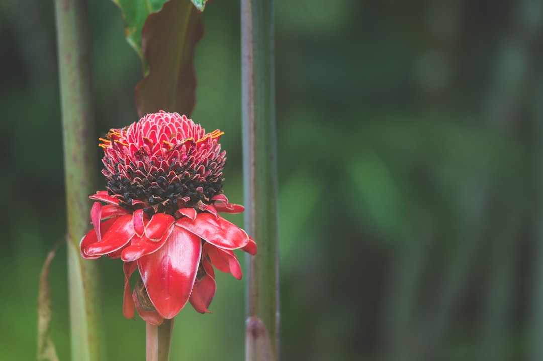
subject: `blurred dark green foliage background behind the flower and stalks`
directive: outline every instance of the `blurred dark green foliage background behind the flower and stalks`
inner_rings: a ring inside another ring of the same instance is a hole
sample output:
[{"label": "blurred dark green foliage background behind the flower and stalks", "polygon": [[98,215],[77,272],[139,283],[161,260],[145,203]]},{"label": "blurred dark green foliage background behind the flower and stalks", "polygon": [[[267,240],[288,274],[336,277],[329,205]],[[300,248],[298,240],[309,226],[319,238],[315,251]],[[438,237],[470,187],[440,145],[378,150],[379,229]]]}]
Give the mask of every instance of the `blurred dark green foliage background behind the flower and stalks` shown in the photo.
[{"label": "blurred dark green foliage background behind the flower and stalks", "polygon": [[[275,14],[282,359],[543,360],[543,3],[275,0]],[[90,16],[102,135],[137,120],[141,65],[112,2]],[[192,119],[225,131],[224,189],[243,203],[239,3],[203,18]],[[35,359],[38,276],[65,235],[54,27],[52,1],[0,0],[2,360]],[[121,262],[97,262],[109,359],[143,360]],[[66,269],[61,248],[61,360]],[[173,360],[243,359],[244,282],[217,278],[213,314],[176,318]]]}]

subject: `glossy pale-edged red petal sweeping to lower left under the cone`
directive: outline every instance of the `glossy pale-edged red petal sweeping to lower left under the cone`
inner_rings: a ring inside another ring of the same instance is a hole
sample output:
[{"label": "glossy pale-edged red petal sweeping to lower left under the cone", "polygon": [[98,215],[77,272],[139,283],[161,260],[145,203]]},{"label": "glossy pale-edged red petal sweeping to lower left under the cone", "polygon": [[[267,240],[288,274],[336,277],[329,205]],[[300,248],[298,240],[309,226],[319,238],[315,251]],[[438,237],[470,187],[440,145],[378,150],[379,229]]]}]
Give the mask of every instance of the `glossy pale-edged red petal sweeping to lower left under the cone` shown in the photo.
[{"label": "glossy pale-edged red petal sweeping to lower left under the cone", "polygon": [[132,215],[112,218],[115,223],[102,236],[102,241],[85,248],[85,253],[91,256],[111,253],[127,244],[134,237]]}]

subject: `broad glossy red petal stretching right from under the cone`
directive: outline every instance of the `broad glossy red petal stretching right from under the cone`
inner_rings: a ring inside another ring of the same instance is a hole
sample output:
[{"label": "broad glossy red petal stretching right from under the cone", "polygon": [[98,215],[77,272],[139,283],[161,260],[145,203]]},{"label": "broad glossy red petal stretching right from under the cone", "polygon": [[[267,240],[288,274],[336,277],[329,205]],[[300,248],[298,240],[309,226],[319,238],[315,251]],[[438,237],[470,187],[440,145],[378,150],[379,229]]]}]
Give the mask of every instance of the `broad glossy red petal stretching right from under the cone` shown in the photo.
[{"label": "broad glossy red petal stretching right from under the cone", "polygon": [[220,248],[241,248],[249,242],[243,229],[222,217],[216,219],[210,213],[199,213],[194,221],[180,218],[175,224]]}]

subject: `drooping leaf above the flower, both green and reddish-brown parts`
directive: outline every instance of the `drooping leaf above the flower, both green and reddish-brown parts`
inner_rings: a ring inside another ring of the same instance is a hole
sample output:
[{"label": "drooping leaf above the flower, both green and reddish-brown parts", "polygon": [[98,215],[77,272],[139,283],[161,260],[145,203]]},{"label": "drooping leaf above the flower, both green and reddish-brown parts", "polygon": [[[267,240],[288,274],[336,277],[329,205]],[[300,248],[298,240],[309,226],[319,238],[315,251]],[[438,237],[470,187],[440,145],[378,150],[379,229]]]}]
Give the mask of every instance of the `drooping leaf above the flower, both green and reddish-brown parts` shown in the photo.
[{"label": "drooping leaf above the flower, both green and reddish-brown parts", "polygon": [[113,0],[123,12],[127,41],[143,64],[135,89],[138,115],[161,110],[189,115],[194,107],[194,46],[203,35],[206,0]]}]

